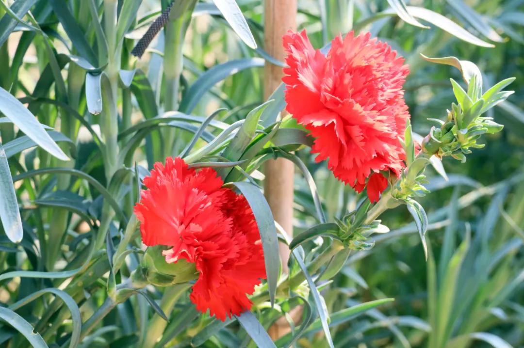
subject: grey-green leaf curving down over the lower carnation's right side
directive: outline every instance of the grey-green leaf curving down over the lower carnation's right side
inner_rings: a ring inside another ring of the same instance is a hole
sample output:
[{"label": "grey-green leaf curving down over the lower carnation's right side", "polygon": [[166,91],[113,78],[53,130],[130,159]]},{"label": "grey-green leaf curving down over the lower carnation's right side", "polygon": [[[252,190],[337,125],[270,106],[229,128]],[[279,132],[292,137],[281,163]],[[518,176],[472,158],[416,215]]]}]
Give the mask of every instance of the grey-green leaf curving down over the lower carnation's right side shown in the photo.
[{"label": "grey-green leaf curving down over the lower carnation's right side", "polygon": [[267,287],[271,305],[275,304],[275,293],[277,291],[280,254],[278,252],[277,230],[275,219],[271,214],[271,209],[266,198],[258,187],[245,182],[228,183],[238,188],[246,197],[247,203],[253,210],[253,215],[257,221],[262,247],[264,249],[264,262],[266,264]]}]

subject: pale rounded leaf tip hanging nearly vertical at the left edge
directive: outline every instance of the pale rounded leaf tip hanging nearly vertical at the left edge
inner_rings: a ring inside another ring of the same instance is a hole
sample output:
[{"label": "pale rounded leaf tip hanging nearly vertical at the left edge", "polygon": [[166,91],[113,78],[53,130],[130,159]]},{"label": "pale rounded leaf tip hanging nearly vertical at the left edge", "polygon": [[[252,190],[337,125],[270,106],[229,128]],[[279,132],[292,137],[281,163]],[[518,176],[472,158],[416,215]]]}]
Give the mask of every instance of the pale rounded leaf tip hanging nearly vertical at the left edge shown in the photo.
[{"label": "pale rounded leaf tip hanging nearly vertical at the left edge", "polygon": [[24,236],[24,230],[18,210],[13,178],[2,143],[0,143],[0,220],[7,238],[13,243],[20,242]]}]

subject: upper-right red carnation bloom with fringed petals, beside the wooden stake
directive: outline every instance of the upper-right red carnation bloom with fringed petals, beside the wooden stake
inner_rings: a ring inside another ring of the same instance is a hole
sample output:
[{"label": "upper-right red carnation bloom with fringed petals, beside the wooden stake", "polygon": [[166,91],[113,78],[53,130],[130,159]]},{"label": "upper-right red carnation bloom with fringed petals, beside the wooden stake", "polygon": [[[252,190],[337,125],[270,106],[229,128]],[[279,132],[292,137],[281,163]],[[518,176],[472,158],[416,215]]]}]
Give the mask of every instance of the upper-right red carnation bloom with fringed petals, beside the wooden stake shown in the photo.
[{"label": "upper-right red carnation bloom with fringed petals, beside the wooden stake", "polygon": [[[286,110],[315,137],[316,161],[328,159],[333,174],[377,201],[387,187],[380,171],[400,175],[408,107],[402,84],[403,58],[370,34],[336,37],[325,57],[305,33],[283,37],[288,52]],[[373,176],[371,174],[376,173]]]}]

